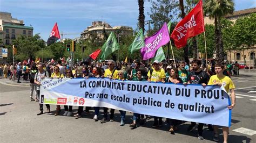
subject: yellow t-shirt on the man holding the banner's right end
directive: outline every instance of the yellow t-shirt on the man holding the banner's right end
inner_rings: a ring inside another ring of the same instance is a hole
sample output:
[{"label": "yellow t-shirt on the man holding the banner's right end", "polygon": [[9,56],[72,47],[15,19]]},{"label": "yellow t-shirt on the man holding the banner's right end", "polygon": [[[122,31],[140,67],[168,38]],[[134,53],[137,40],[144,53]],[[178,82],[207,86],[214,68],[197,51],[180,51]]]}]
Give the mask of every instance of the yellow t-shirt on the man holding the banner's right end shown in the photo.
[{"label": "yellow t-shirt on the man holding the banner's right end", "polygon": [[217,75],[211,76],[208,85],[213,85],[216,83],[221,83],[227,92],[228,90],[235,88],[233,81],[228,76],[224,76],[222,78],[219,78]]}]

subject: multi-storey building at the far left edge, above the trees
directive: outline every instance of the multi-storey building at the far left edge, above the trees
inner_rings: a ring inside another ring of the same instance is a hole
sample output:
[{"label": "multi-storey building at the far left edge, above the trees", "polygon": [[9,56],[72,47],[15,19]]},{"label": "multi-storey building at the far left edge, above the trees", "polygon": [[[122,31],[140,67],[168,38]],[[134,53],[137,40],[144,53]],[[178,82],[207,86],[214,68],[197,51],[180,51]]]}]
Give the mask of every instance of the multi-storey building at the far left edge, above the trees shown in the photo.
[{"label": "multi-storey building at the far left edge, above the trees", "polygon": [[0,39],[3,45],[11,45],[19,35],[33,35],[32,26],[24,26],[23,20],[11,17],[11,13],[0,12]]}]

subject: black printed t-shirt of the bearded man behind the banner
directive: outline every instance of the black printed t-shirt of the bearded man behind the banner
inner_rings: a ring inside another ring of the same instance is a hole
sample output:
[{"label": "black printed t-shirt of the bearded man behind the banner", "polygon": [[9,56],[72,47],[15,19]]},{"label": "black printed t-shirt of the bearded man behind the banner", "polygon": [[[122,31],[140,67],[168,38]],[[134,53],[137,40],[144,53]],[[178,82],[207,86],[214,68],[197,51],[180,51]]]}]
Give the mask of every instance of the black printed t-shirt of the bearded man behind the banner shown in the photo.
[{"label": "black printed t-shirt of the bearded man behind the banner", "polygon": [[210,77],[203,70],[199,71],[198,73],[196,71],[193,71],[192,73],[190,73],[190,76],[188,77],[188,81],[190,81],[191,84],[207,84],[209,79]]}]

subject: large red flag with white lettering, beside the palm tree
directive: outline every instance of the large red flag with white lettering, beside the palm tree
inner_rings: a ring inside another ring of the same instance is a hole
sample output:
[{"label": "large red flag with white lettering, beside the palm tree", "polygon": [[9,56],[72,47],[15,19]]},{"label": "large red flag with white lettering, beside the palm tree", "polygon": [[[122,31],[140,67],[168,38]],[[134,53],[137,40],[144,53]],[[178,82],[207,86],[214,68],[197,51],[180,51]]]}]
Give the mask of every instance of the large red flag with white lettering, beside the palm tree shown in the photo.
[{"label": "large red flag with white lettering, beside the palm tree", "polygon": [[180,20],[174,28],[171,38],[177,48],[186,46],[187,39],[194,37],[205,31],[203,2],[199,3],[188,13],[188,15]]}]

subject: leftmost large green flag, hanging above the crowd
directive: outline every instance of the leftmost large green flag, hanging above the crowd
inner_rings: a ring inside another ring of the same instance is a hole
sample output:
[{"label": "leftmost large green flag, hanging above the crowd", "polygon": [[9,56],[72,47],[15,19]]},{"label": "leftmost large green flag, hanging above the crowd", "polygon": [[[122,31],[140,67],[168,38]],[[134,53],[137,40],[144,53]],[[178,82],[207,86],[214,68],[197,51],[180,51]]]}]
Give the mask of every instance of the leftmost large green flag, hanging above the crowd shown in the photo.
[{"label": "leftmost large green flag, hanging above the crowd", "polygon": [[100,56],[100,59],[105,60],[107,56],[109,56],[111,53],[119,49],[119,45],[116,39],[116,36],[113,32],[110,33],[109,38],[107,38],[105,44],[102,46],[102,56]]}]

